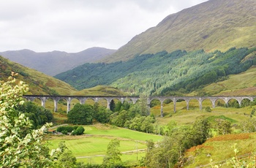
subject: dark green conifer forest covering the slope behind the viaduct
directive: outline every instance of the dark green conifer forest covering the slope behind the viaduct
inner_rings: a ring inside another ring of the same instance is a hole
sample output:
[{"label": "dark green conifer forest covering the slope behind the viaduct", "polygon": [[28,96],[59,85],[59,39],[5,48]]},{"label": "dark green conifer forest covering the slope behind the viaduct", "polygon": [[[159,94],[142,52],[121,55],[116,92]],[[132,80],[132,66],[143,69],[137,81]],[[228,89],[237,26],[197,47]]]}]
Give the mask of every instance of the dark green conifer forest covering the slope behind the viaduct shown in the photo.
[{"label": "dark green conifer forest covering the slope behind the viaduct", "polygon": [[84,64],[56,78],[78,89],[112,85],[135,95],[176,95],[225,80],[227,75],[244,72],[255,64],[255,47],[233,47],[225,53],[176,50],[135,56],[126,62]]}]

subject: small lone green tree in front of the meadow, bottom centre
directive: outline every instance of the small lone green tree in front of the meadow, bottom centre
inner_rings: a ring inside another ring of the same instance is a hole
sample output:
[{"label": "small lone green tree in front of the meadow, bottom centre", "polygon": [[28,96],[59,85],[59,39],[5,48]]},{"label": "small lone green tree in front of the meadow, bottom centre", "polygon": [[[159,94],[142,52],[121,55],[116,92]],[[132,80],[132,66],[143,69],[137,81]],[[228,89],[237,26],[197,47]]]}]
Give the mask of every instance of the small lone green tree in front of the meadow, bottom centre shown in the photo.
[{"label": "small lone green tree in front of the meadow, bottom centre", "polygon": [[118,150],[120,146],[120,141],[113,139],[109,142],[106,155],[103,159],[103,165],[106,167],[116,167],[118,164],[121,164],[121,152]]}]

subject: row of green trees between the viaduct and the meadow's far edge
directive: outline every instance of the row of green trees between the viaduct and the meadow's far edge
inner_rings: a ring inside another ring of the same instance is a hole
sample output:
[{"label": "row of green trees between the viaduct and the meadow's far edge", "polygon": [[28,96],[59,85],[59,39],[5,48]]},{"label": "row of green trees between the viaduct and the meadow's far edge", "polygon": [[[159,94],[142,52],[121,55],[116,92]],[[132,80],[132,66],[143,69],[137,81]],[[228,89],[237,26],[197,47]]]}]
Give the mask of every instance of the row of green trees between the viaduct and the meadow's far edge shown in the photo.
[{"label": "row of green trees between the viaduct and the meadow's far edge", "polygon": [[99,106],[98,103],[94,105],[78,103],[69,111],[67,118],[67,122],[72,124],[89,125],[96,120],[135,131],[156,132],[154,126],[156,118],[153,114],[149,114],[146,96],[143,94],[140,95],[140,101],[137,104],[129,100],[123,103],[112,101],[110,109]]}]

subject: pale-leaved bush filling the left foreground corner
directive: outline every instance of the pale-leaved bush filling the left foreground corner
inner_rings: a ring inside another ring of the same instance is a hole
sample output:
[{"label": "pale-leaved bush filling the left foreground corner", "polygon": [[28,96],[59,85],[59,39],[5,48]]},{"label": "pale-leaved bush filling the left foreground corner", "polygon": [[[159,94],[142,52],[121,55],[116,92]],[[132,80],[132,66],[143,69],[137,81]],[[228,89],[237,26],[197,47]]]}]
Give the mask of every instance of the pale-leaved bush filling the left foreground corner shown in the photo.
[{"label": "pale-leaved bush filling the left foreground corner", "polygon": [[12,72],[7,82],[0,82],[0,167],[56,167],[62,151],[50,153],[43,141],[47,126],[31,129],[29,118],[15,110],[29,88],[14,76]]}]

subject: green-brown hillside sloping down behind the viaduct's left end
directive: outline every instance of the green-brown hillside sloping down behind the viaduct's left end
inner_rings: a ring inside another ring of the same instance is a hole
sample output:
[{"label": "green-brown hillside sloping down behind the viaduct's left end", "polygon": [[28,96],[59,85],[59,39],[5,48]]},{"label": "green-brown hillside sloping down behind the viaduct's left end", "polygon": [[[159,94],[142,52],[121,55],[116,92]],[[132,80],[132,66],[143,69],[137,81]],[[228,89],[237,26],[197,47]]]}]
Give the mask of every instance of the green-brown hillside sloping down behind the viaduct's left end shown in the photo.
[{"label": "green-brown hillside sloping down behind the viaduct's left end", "polygon": [[125,95],[125,93],[119,91],[117,88],[113,88],[107,85],[97,86],[94,88],[77,91],[67,83],[61,80],[57,80],[54,77],[38,72],[34,69],[29,69],[15,62],[9,61],[6,58],[0,56],[0,80],[6,81],[10,77],[11,72],[18,72],[18,80],[23,80],[29,85],[29,94],[36,95],[105,95],[116,96]]}]

